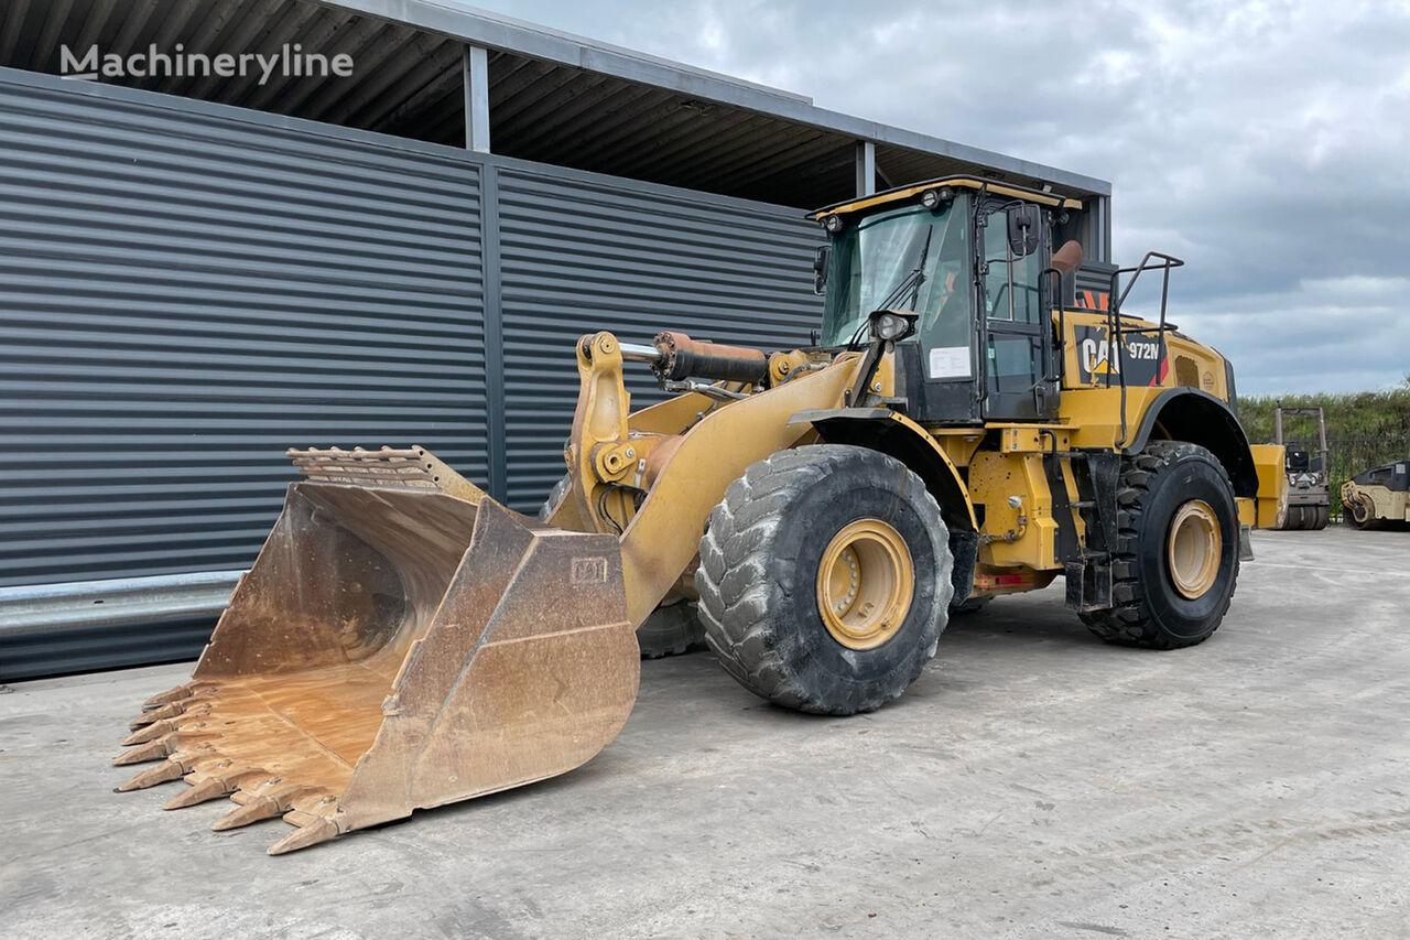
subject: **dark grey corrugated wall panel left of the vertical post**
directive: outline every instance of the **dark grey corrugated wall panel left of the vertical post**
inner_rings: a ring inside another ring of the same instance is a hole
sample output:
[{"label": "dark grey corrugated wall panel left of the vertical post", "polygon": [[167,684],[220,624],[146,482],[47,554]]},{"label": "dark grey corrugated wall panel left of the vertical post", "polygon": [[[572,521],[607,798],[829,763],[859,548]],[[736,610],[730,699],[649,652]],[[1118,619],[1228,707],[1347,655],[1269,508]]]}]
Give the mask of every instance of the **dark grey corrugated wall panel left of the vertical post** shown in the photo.
[{"label": "dark grey corrugated wall panel left of the vertical post", "polygon": [[248,567],[290,445],[484,480],[481,168],[123,99],[0,76],[0,586]]}]

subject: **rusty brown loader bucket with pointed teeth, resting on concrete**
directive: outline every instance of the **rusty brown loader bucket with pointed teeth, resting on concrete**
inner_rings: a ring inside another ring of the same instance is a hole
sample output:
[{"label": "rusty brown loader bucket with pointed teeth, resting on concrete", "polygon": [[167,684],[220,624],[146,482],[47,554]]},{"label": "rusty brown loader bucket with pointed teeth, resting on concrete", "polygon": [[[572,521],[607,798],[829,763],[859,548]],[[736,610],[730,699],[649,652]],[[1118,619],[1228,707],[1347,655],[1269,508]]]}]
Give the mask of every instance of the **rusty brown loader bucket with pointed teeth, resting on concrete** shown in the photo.
[{"label": "rusty brown loader bucket with pointed teeth, resting on concrete", "polygon": [[499,505],[423,449],[290,452],[289,486],[186,685],[154,696],[120,790],[283,816],[271,854],[520,786],[616,737],[640,659],[611,535]]}]

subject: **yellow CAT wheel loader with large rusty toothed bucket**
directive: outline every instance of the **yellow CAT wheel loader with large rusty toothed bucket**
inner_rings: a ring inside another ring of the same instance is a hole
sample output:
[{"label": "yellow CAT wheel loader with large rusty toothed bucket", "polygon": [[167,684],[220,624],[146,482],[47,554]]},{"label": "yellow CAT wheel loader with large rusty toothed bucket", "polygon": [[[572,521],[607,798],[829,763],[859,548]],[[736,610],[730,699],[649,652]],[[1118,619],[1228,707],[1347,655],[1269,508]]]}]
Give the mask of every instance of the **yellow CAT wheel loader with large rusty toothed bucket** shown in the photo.
[{"label": "yellow CAT wheel loader with large rusty toothed bucket", "polygon": [[[1058,577],[1103,641],[1203,642],[1285,510],[1283,449],[1249,446],[1228,360],[1166,322],[1177,258],[1077,306],[1080,212],[904,186],[812,213],[811,346],[582,336],[543,519],[417,446],[290,450],[302,478],[190,682],[131,723],[116,762],[152,764],[118,789],[228,796],[217,830],[282,816],[279,854],[564,773],[626,721],[663,604],[698,603],[752,693],[832,716],[902,694],[952,607]],[[1122,312],[1152,272],[1159,311]],[[632,411],[627,367],[671,397]]]}]

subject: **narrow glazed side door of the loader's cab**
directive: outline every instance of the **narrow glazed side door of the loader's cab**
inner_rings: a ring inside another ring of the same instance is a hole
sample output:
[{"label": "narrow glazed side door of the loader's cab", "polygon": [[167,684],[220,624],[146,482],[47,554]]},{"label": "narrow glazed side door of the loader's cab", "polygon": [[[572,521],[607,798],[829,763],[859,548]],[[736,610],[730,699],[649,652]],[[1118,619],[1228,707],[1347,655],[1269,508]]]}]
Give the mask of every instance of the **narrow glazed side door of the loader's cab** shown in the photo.
[{"label": "narrow glazed side door of the loader's cab", "polygon": [[1042,278],[1050,254],[1039,206],[991,200],[979,215],[976,285],[980,406],[986,421],[1042,421],[1058,414],[1052,303]]}]

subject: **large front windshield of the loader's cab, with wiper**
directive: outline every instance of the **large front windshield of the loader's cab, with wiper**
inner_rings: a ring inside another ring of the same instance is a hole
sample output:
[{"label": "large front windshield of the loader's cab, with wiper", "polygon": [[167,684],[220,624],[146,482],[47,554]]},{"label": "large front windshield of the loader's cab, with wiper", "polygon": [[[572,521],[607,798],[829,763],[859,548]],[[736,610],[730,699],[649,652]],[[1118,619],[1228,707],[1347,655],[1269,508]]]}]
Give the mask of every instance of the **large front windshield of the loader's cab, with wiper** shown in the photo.
[{"label": "large front windshield of the loader's cab, with wiper", "polygon": [[[846,346],[864,333],[867,315],[898,288],[904,289],[901,296],[891,298],[891,306],[919,313],[921,336],[931,337],[943,323],[953,322],[957,335],[938,337],[943,340],[938,344],[969,343],[963,202],[956,199],[939,212],[916,205],[893,209],[867,216],[838,236],[822,312],[823,346]],[[918,268],[918,275],[911,277]],[[964,311],[960,316],[942,316],[952,306]]]}]

